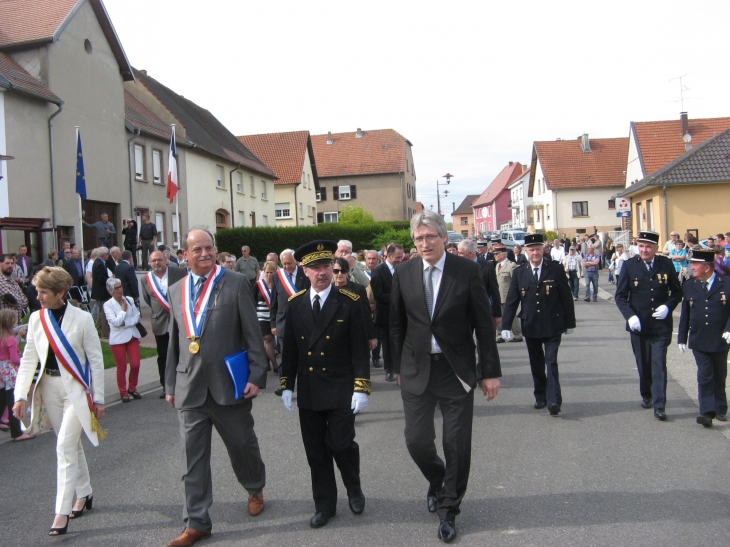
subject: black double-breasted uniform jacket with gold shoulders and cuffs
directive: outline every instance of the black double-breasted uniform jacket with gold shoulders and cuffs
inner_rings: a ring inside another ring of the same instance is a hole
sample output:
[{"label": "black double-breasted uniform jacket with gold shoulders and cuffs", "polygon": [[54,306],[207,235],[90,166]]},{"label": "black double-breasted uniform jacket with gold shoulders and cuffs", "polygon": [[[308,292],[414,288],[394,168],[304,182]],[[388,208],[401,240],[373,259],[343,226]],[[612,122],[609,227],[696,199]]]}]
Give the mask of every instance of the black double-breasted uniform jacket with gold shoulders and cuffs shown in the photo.
[{"label": "black double-breasted uniform jacket with gold shoulders and cuffs", "polygon": [[350,408],[354,391],[370,393],[370,346],[359,299],[332,287],[315,324],[309,290],[290,298],[281,389],[296,385],[300,408]]}]

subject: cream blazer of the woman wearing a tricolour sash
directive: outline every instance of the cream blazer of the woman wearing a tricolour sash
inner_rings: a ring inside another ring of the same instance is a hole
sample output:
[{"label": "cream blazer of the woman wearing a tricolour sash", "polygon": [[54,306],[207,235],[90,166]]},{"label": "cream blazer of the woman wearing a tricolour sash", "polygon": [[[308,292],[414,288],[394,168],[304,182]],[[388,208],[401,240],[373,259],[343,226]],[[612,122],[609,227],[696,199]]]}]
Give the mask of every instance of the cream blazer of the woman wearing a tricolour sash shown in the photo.
[{"label": "cream blazer of the woman wearing a tricolour sash", "polygon": [[[46,367],[49,345],[40,321],[39,313],[34,312],[28,320],[27,342],[23,351],[23,357],[20,359],[18,377],[15,380],[15,399],[17,400],[19,397],[27,399],[30,386],[33,383],[33,375],[40,361],[39,380],[33,388],[34,396],[30,421],[30,429],[32,432],[38,431],[40,421],[43,402],[39,393],[37,393],[37,387],[38,384],[43,382],[44,378],[47,378],[43,374],[43,371]],[[61,322],[61,331],[66,335],[71,347],[76,352],[76,355],[78,355],[82,366],[88,357],[92,399],[97,404],[104,404],[104,358],[101,353],[99,336],[94,327],[94,319],[90,313],[69,304]],[[94,446],[98,446],[99,439],[96,433],[91,431],[91,412],[84,387],[60,363],[58,368],[61,371],[63,385],[66,387],[68,397],[74,405],[74,410],[76,410],[76,414],[79,417],[81,426],[86,432],[86,436]]]}]

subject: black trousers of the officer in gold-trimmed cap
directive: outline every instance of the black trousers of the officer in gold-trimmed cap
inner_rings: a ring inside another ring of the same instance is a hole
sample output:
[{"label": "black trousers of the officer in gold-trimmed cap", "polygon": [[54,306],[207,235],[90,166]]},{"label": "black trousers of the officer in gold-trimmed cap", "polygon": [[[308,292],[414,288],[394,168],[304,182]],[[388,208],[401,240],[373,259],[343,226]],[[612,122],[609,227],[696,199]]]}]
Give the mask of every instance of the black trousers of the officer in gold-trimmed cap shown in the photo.
[{"label": "black trousers of the officer in gold-trimmed cap", "polygon": [[337,511],[337,480],[332,460],[337,463],[348,495],[360,489],[360,447],[355,442],[355,415],[349,408],[299,409],[304,451],[312,474],[315,512],[334,515]]}]

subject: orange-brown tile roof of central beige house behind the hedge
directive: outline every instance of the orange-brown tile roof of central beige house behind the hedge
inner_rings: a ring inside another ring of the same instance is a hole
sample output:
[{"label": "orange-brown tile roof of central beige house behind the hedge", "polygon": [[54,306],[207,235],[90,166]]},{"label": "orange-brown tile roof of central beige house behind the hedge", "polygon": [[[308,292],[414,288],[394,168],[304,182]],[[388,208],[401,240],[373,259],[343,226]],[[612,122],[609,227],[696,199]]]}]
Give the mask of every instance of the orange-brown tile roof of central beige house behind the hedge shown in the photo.
[{"label": "orange-brown tile roof of central beige house behind the hedge", "polygon": [[406,150],[411,142],[393,129],[312,135],[312,147],[320,177],[400,173],[406,169]]}]

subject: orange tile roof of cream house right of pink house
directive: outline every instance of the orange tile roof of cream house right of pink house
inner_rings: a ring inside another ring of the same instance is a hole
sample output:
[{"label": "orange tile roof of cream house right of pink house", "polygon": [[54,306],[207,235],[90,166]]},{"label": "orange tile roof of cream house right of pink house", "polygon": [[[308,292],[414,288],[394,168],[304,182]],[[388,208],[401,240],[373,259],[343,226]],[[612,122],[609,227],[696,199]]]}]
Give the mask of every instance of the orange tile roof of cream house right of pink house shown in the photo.
[{"label": "orange tile roof of cream house right of pink house", "polygon": [[535,142],[528,195],[532,196],[538,158],[550,190],[625,186],[629,138],[590,139],[590,146],[590,152],[583,152],[580,139]]}]

